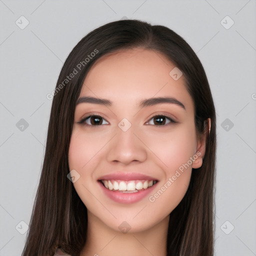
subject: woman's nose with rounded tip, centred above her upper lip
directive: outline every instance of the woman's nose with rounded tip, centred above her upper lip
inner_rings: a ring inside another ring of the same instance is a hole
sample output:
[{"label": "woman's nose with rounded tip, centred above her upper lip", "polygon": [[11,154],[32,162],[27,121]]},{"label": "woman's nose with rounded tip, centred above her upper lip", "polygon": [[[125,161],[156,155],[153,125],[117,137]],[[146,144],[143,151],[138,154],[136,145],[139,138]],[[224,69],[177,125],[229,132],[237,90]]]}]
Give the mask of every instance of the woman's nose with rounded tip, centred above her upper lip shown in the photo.
[{"label": "woman's nose with rounded tip, centred above her upper lip", "polygon": [[108,162],[114,161],[127,165],[133,161],[143,162],[147,158],[147,147],[139,139],[139,134],[133,132],[132,126],[126,131],[117,127],[116,135],[107,146]]}]

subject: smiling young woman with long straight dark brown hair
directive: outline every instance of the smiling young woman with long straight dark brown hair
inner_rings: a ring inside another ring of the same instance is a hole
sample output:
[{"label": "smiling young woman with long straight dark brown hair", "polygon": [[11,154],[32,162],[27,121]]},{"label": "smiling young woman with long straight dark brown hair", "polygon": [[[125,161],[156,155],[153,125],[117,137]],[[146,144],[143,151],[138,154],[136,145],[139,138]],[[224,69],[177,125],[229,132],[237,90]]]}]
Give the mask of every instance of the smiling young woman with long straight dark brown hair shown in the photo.
[{"label": "smiling young woman with long straight dark brown hair", "polygon": [[52,96],[22,255],[213,255],[215,108],[179,35],[102,25],[70,52]]}]

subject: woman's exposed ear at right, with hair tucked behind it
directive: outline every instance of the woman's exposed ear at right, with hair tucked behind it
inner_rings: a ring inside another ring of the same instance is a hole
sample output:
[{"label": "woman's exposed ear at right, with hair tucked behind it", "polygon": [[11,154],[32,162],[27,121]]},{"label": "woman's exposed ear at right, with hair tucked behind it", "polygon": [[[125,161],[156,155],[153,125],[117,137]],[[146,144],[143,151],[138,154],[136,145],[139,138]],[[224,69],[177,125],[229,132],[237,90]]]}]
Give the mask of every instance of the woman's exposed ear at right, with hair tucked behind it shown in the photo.
[{"label": "woman's exposed ear at right, with hair tucked behind it", "polygon": [[194,158],[194,161],[192,163],[192,168],[197,169],[202,166],[202,160],[205,154],[205,146],[206,146],[206,138],[207,133],[210,134],[210,118],[207,118],[206,120],[207,126],[204,129],[204,133],[199,136],[197,139],[197,146],[196,146],[196,155],[197,158]]}]

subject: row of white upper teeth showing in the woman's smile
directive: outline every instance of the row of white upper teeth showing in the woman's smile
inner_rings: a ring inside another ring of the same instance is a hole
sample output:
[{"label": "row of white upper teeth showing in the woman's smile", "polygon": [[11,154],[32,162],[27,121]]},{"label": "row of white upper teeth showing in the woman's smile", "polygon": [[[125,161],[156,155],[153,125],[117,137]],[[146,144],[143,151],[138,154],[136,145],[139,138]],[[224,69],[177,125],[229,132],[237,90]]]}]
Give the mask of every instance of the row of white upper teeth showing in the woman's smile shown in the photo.
[{"label": "row of white upper teeth showing in the woman's smile", "polygon": [[155,180],[102,180],[102,182],[109,190],[119,191],[137,191],[156,183]]}]

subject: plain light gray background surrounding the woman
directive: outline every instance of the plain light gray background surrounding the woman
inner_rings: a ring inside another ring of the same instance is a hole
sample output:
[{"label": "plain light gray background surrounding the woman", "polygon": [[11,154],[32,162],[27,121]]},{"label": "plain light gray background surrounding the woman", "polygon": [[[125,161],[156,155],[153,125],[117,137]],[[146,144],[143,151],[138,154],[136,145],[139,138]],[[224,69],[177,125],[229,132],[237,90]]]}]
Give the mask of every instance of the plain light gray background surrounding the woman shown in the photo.
[{"label": "plain light gray background surrounding the woman", "polygon": [[[256,0],[0,0],[0,256],[20,255],[24,246],[51,107],[46,94],[78,41],[124,16],[168,26],[200,58],[217,112],[215,255],[256,255],[255,14]],[[29,21],[23,29],[21,15]]]}]

